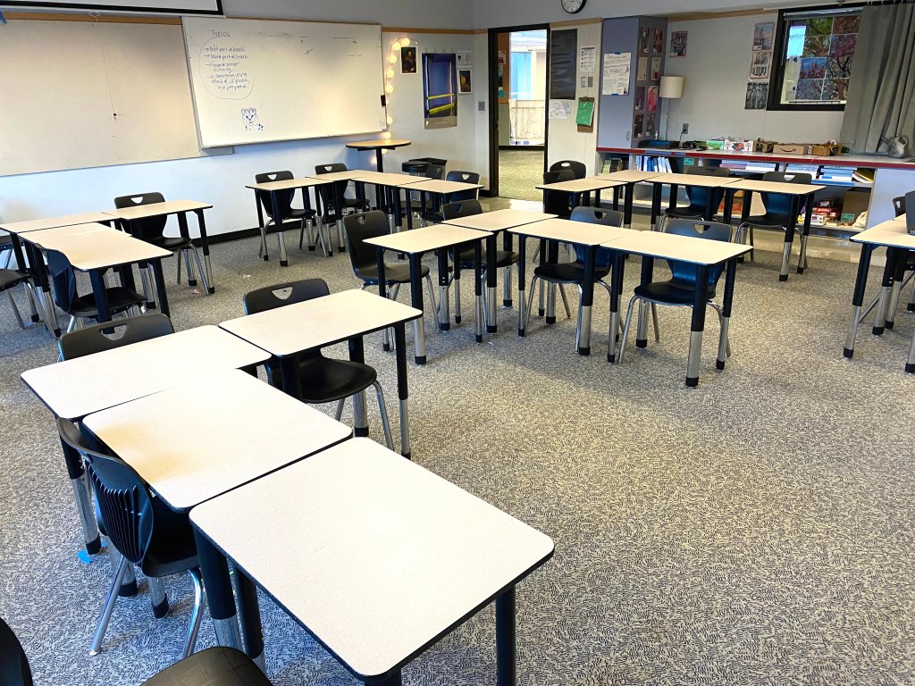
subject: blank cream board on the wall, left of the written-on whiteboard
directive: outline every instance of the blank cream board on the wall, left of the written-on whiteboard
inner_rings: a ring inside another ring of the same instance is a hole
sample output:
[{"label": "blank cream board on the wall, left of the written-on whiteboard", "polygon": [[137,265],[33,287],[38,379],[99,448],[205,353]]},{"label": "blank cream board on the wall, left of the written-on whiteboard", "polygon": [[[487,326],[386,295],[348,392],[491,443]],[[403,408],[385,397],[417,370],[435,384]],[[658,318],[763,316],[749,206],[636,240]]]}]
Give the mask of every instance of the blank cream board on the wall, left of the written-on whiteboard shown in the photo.
[{"label": "blank cream board on the wall, left of the written-on whiteboard", "polygon": [[201,155],[178,24],[10,17],[0,65],[2,176]]}]

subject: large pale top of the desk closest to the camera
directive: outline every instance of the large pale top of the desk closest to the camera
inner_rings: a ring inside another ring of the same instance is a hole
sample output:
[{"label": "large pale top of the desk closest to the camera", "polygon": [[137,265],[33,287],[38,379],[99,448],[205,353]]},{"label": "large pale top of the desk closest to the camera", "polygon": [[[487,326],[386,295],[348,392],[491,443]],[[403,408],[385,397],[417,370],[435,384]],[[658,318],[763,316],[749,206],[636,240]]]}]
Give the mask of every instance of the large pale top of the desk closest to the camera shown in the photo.
[{"label": "large pale top of the desk closest to the camera", "polygon": [[190,520],[361,677],[403,666],[554,550],[366,438],[214,498]]}]

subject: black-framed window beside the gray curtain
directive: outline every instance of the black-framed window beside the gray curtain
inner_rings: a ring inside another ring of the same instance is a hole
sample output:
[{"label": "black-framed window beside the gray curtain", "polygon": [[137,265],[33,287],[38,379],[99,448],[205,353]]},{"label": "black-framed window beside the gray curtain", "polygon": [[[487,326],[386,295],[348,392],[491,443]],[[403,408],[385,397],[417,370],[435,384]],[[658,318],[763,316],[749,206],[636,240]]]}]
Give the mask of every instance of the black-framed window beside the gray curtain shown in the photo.
[{"label": "black-framed window beside the gray curtain", "polygon": [[861,7],[779,13],[770,110],[844,110]]}]

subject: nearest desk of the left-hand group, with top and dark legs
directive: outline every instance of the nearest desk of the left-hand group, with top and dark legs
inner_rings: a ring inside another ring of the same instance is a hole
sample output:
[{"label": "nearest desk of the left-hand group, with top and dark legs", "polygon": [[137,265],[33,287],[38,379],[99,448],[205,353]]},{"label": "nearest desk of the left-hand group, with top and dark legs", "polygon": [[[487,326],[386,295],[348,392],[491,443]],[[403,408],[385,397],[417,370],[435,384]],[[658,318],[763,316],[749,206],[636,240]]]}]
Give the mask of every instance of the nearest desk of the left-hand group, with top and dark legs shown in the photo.
[{"label": "nearest desk of the left-hand group, with top and dark legs", "polygon": [[[162,274],[162,258],[170,257],[171,252],[139,241],[104,224],[77,224],[57,229],[29,231],[22,234],[22,238],[41,250],[62,252],[73,269],[89,273],[99,322],[111,321],[112,318],[108,307],[108,291],[105,287],[105,270],[109,267],[124,266],[125,268],[120,270],[122,283],[125,288],[134,289],[134,273],[130,265],[150,263],[156,280],[159,309],[162,314],[168,316],[168,296],[165,276]],[[50,305],[53,305],[53,301]]]}]

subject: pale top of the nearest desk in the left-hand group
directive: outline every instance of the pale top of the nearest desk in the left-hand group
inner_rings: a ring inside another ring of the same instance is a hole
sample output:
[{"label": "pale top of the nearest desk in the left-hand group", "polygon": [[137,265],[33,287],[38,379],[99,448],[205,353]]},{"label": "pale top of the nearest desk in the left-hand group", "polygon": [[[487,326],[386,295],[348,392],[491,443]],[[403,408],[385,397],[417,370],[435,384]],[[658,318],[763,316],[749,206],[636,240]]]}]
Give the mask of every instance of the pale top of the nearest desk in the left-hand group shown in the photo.
[{"label": "pale top of the nearest desk in the left-hand group", "polygon": [[74,269],[88,272],[115,264],[169,257],[171,252],[103,224],[77,224],[29,231],[23,240],[44,250],[63,252]]}]

